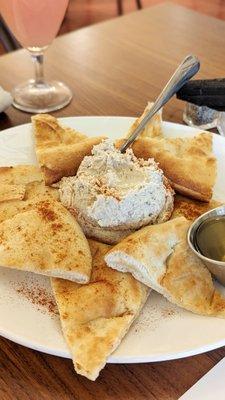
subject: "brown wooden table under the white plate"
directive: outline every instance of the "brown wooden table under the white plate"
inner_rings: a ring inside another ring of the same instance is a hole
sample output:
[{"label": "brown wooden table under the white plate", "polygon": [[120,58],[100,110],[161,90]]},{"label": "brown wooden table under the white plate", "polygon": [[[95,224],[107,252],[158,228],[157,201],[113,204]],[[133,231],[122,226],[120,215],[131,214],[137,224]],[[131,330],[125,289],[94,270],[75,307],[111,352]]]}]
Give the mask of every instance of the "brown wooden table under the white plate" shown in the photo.
[{"label": "brown wooden table under the white plate", "polygon": [[[138,115],[188,53],[202,62],[199,77],[224,76],[225,23],[166,3],[60,37],[46,54],[46,75],[64,80],[74,98],[55,115]],[[24,50],[0,57],[5,89],[31,76]],[[172,100],[164,119],[181,122],[183,107]],[[0,115],[0,129],[28,121],[29,114],[10,108]],[[219,349],[177,361],[107,365],[93,383],[77,376],[70,360],[1,339],[0,399],[174,400],[224,356]]]}]

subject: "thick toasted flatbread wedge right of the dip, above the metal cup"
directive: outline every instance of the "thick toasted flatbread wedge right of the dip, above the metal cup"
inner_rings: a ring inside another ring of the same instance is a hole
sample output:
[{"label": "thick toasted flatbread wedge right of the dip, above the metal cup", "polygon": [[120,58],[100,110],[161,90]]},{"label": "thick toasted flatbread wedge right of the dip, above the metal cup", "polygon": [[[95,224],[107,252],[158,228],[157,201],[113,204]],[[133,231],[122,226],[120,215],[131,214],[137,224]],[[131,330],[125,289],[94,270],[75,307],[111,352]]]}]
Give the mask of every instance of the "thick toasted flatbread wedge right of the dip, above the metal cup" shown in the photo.
[{"label": "thick toasted flatbread wedge right of the dip, above the metal cup", "polygon": [[193,138],[140,138],[132,149],[139,158],[154,158],[180,194],[202,201],[211,199],[216,179],[211,133]]}]

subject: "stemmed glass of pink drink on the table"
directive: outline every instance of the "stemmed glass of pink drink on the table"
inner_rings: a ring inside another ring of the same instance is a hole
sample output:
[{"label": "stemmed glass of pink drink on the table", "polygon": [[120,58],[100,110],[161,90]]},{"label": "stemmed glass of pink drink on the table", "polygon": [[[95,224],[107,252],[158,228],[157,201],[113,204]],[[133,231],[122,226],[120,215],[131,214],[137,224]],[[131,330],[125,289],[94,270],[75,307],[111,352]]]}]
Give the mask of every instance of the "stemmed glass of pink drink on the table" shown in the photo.
[{"label": "stemmed glass of pink drink on the table", "polygon": [[[35,78],[16,86],[13,105],[23,111],[44,113],[65,107],[71,90],[59,81],[46,81],[44,52],[55,38],[69,0],[0,0],[0,12],[19,43],[31,54]],[[16,68],[16,66],[15,66]]]}]

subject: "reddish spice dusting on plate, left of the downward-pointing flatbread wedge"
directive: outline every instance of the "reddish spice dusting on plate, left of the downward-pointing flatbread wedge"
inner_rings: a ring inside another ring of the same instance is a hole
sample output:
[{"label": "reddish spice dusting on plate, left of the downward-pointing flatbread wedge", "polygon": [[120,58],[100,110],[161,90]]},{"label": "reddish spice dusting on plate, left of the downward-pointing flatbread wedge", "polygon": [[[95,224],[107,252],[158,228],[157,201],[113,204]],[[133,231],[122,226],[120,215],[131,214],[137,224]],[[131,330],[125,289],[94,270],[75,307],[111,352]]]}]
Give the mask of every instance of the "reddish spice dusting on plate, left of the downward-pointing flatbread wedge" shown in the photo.
[{"label": "reddish spice dusting on plate, left of the downward-pointing flatbread wedge", "polygon": [[38,285],[29,285],[25,282],[17,284],[14,289],[17,293],[37,306],[37,309],[43,313],[58,315],[58,308],[53,294],[47,289]]}]

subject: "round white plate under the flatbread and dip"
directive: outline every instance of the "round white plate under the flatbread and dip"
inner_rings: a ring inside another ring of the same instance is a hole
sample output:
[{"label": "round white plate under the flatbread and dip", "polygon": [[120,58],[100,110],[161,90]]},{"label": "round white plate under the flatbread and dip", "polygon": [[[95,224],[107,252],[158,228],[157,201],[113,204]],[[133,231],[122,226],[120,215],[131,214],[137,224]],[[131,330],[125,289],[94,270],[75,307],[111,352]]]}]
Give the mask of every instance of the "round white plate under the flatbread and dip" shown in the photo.
[{"label": "round white plate under the flatbread and dip", "polygon": [[[121,137],[134,118],[63,118],[90,136]],[[166,136],[194,136],[199,130],[163,123]],[[225,199],[225,140],[214,135],[218,176],[214,197]],[[0,134],[0,165],[36,163],[31,125],[7,129]],[[224,291],[225,289],[221,290]],[[70,357],[58,315],[51,307],[49,279],[0,267],[0,335],[19,344],[62,357]],[[47,303],[47,304],[45,304]],[[202,317],[182,310],[152,292],[138,320],[109,358],[112,363],[163,361],[186,357],[225,345],[225,319]]]}]

